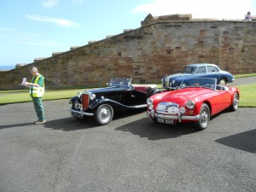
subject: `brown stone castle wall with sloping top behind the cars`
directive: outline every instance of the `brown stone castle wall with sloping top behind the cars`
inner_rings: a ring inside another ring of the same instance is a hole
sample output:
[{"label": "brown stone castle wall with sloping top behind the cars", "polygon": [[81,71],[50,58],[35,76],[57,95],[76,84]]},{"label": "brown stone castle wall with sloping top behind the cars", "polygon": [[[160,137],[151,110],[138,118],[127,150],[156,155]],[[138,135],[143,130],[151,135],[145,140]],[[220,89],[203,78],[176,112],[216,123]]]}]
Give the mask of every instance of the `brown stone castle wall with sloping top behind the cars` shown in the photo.
[{"label": "brown stone castle wall with sloping top behind the cars", "polygon": [[256,22],[157,21],[24,67],[0,72],[0,90],[21,89],[38,67],[46,88],[102,85],[113,77],[159,82],[190,63],[209,62],[233,74],[256,73]]}]

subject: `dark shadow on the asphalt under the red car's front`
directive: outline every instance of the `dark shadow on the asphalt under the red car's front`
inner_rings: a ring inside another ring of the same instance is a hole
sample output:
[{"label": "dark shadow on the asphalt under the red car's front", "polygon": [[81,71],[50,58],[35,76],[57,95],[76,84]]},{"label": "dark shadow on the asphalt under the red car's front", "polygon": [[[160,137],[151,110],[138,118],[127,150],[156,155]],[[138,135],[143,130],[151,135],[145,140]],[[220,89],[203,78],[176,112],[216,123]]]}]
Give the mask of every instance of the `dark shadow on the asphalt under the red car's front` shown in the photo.
[{"label": "dark shadow on the asphalt under the red car's front", "polygon": [[133,121],[130,124],[119,126],[116,131],[129,131],[139,137],[147,137],[148,140],[160,140],[166,138],[182,137],[183,135],[198,132],[193,124],[184,123],[177,125],[166,125],[155,123],[147,118]]}]

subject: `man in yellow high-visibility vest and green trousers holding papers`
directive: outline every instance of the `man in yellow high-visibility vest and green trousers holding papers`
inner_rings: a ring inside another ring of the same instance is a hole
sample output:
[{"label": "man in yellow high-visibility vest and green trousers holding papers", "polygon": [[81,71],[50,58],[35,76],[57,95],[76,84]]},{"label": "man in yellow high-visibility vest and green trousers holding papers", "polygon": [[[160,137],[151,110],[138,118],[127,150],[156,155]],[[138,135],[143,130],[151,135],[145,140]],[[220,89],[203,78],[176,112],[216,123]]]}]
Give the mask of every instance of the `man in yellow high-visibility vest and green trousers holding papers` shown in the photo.
[{"label": "man in yellow high-visibility vest and green trousers holding papers", "polygon": [[30,96],[32,97],[32,102],[38,115],[38,120],[35,122],[35,124],[44,124],[44,106],[42,101],[42,96],[44,96],[44,76],[38,73],[37,67],[32,67],[30,72],[33,76],[32,82],[25,82],[24,85],[30,87]]}]

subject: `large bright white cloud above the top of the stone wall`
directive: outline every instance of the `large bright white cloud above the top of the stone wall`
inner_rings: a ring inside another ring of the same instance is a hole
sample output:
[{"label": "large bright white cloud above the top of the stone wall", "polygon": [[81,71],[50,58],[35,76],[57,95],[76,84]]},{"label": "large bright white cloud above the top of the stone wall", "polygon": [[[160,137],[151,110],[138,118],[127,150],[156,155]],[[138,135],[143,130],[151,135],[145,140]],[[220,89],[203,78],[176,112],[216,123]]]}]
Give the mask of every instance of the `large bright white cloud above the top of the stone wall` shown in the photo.
[{"label": "large bright white cloud above the top of the stone wall", "polygon": [[133,13],[153,16],[192,14],[192,18],[244,19],[253,9],[253,0],[154,0],[138,5]]}]

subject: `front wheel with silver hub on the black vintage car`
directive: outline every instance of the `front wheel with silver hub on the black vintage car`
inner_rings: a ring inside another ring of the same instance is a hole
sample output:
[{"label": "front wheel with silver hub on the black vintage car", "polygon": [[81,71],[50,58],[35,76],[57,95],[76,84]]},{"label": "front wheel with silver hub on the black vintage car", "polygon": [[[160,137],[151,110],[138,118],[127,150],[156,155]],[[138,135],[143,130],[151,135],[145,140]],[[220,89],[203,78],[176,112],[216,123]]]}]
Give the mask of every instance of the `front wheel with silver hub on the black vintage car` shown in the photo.
[{"label": "front wheel with silver hub on the black vintage car", "polygon": [[103,104],[96,109],[94,120],[99,125],[107,125],[113,119],[113,108],[108,104]]}]

